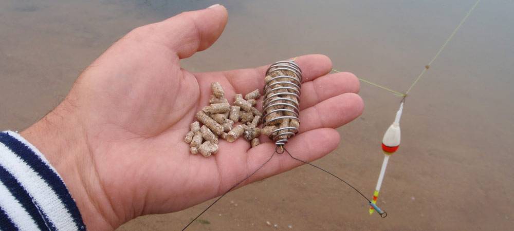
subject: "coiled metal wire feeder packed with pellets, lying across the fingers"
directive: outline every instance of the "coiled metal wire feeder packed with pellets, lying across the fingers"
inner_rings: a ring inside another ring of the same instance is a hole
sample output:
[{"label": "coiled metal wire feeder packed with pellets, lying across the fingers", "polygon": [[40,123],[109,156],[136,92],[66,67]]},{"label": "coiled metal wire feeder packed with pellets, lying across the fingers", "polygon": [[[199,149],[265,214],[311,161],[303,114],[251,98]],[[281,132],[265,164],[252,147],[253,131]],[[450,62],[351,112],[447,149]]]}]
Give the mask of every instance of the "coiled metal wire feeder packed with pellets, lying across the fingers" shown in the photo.
[{"label": "coiled metal wire feeder packed with pellets, lying across the fingers", "polygon": [[300,126],[302,70],[295,61],[279,61],[266,71],[263,101],[264,126],[277,126],[269,138],[284,146]]}]

